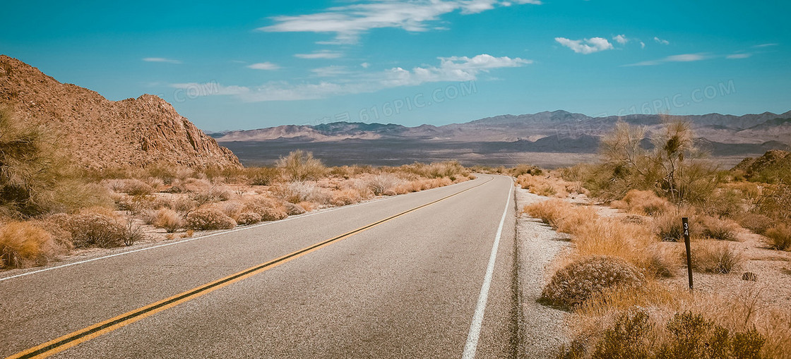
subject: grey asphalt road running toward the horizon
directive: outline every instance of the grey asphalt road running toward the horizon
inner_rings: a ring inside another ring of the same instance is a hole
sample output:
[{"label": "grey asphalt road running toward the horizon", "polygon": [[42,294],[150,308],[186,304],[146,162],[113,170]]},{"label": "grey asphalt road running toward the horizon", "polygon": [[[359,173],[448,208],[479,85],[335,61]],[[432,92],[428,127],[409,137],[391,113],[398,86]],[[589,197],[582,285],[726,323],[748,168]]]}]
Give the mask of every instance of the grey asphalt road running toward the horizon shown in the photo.
[{"label": "grey asphalt road running toward the horizon", "polygon": [[[0,357],[457,192],[45,354],[462,357],[477,338],[475,357],[514,357],[519,315],[512,187],[508,177],[481,175],[17,278],[0,274]],[[485,309],[479,335],[471,330],[476,308]]]}]

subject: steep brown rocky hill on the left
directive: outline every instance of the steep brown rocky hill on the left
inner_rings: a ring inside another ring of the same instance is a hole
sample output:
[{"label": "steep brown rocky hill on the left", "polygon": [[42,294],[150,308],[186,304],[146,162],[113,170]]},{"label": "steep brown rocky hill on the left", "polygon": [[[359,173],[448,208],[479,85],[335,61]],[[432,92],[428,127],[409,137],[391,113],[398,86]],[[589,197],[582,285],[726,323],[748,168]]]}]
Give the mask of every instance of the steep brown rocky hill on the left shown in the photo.
[{"label": "steep brown rocky hill on the left", "polygon": [[21,119],[57,130],[62,150],[85,167],[240,166],[229,149],[157,96],[107,100],[6,55],[0,55],[0,104]]}]

